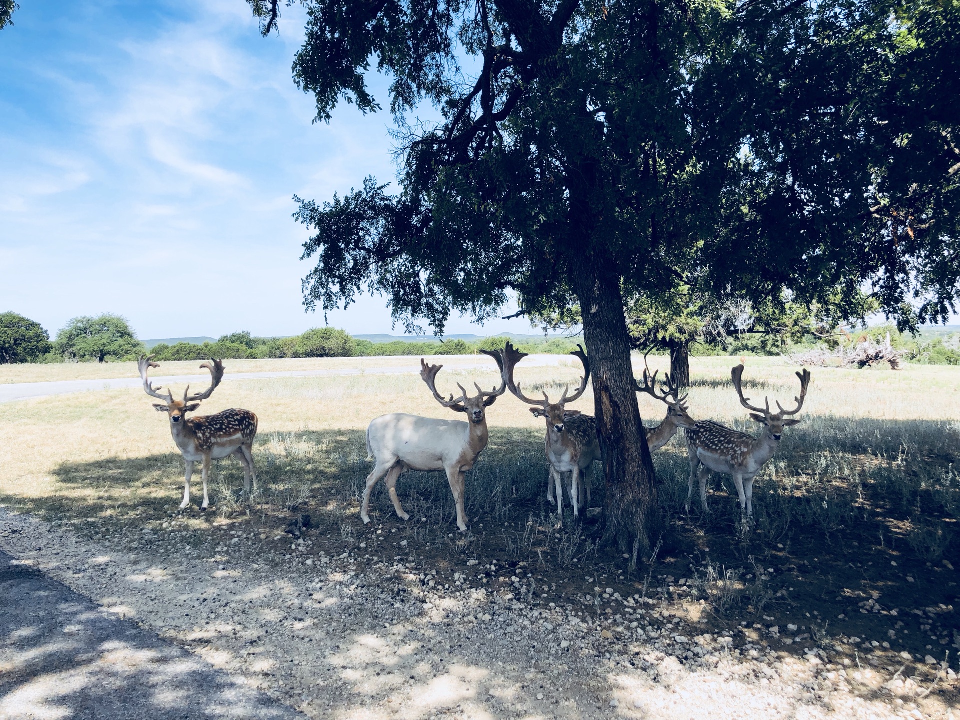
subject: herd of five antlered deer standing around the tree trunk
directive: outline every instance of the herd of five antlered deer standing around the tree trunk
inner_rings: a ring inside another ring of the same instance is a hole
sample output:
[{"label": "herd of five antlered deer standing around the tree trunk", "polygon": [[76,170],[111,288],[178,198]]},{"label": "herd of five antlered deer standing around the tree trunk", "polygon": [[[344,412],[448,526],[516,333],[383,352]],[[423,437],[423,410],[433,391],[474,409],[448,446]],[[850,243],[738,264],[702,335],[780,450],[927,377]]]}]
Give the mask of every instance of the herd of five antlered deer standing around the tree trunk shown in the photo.
[{"label": "herd of five antlered deer standing around the tree trunk", "polygon": [[[465,413],[468,421],[436,420],[421,418],[406,413],[391,413],[383,415],[370,423],[367,428],[367,452],[370,459],[376,461],[376,466],[367,477],[367,487],[364,491],[363,505],[360,516],[364,523],[370,522],[370,496],[376,483],[386,478],[387,490],[394,502],[396,515],[404,520],[410,518],[403,510],[400,499],[396,494],[396,480],[407,470],[432,471],[443,470],[453,492],[453,499],[457,510],[457,527],[467,531],[467,514],[465,511],[465,473],[473,468],[480,453],[487,446],[489,433],[487,429],[486,410],[496,398],[503,395],[508,389],[522,400],[532,405],[530,412],[537,418],[546,419],[546,456],[550,468],[550,480],[547,483],[547,496],[557,503],[557,515],[563,517],[564,490],[569,495],[573,506],[574,516],[580,515],[580,502],[583,490],[587,491],[587,504],[590,502],[590,482],[587,470],[594,460],[601,460],[601,449],[597,438],[596,420],[583,415],[579,410],[566,407],[583,396],[587,390],[590,374],[590,364],[583,348],[571,354],[580,358],[584,365],[584,375],[580,387],[569,396],[569,387],[557,402],[551,402],[549,396],[543,393],[543,399],[525,396],[520,386],[514,380],[514,370],[526,353],[519,352],[510,343],[502,350],[481,350],[490,355],[500,369],[500,386],[486,392],[475,385],[476,396],[468,396],[463,385],[458,387],[461,396],[454,399],[453,395],[444,398],[437,392],[437,373],[442,365],[427,365],[420,360],[420,377],[427,387],[446,408],[457,413]],[[154,407],[158,412],[168,413],[170,416],[170,430],[174,442],[186,462],[185,488],[183,502],[180,509],[190,504],[190,478],[193,475],[194,463],[203,463],[204,477],[204,504],[201,510],[209,505],[206,484],[209,475],[210,461],[235,455],[245,470],[244,492],[249,496],[251,480],[253,490],[256,490],[256,472],[253,468],[252,445],[256,436],[257,419],[249,410],[225,410],[217,415],[195,417],[187,420],[186,413],[195,411],[200,401],[209,397],[220,384],[224,376],[224,366],[220,360],[211,360],[201,368],[209,370],[211,375],[210,387],[199,395],[190,395],[187,386],[183,399],[174,399],[173,392],[161,395],[147,378],[151,368],[159,367],[151,358],[141,357],[139,368],[143,379],[143,389],[147,395],[162,400]],[[707,480],[711,472],[732,475],[733,484],[740,498],[740,509],[749,518],[753,516],[754,478],[760,468],[773,456],[783,428],[795,425],[800,420],[788,416],[797,415],[804,407],[806,390],[810,383],[810,372],[797,372],[800,378],[800,396],[794,399],[797,406],[792,410],[780,408],[779,413],[770,411],[770,400],[767,398],[763,408],[750,404],[749,397],[743,396],[742,387],[743,365],[732,370],[733,387],[740,397],[740,403],[752,411],[750,417],[763,425],[763,432],[758,438],[745,435],[729,427],[710,420],[693,420],[687,413],[684,400],[680,396],[677,383],[669,374],[664,376],[665,384],[657,391],[657,372],[653,375],[648,370],[643,371],[642,384],[634,381],[637,393],[646,393],[660,400],[667,406],[666,417],[657,427],[645,428],[647,444],[651,452],[667,444],[677,430],[683,428],[686,436],[687,454],[690,460],[690,479],[686,497],[686,509],[689,512],[690,499],[693,496],[694,480],[700,482],[700,502],[704,511],[707,511]],[[565,482],[564,482],[565,481]]]}]

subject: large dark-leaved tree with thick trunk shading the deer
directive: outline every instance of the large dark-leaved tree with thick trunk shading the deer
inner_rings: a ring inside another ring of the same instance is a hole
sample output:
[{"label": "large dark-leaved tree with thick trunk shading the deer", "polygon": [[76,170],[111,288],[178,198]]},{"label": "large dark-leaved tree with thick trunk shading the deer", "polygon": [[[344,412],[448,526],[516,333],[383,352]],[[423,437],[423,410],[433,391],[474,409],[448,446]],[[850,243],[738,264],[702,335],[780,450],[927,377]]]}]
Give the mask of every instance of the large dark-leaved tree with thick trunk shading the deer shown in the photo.
[{"label": "large dark-leaved tree with thick trunk shading the deer", "polygon": [[[278,2],[248,2],[269,34]],[[621,546],[656,523],[624,298],[826,305],[872,283],[902,325],[956,300],[956,0],[304,5],[294,79],[316,119],[379,110],[375,67],[401,141],[396,194],[297,198],[307,306],[369,290],[438,331],[511,290],[528,313],[583,308]],[[441,119],[411,120],[422,103]]]}]

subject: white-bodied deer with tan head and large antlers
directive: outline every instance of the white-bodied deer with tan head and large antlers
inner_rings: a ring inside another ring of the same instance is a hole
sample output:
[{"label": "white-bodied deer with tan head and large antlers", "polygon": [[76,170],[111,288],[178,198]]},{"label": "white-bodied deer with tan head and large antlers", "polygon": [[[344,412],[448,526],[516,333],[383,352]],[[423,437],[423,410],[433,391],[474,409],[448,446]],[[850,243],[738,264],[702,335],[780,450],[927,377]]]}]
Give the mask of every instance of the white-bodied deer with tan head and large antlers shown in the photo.
[{"label": "white-bodied deer with tan head and large antlers", "polygon": [[[496,360],[502,375],[503,361],[500,353],[480,351]],[[360,517],[364,524],[370,522],[370,494],[380,478],[386,477],[387,492],[390,492],[390,499],[394,501],[396,515],[409,520],[410,516],[403,510],[400,498],[396,495],[396,479],[407,470],[444,470],[457,508],[457,527],[461,532],[467,532],[467,512],[464,507],[465,473],[473,468],[477,457],[487,446],[486,410],[496,402],[497,397],[506,392],[507,384],[504,380],[499,389],[494,388],[491,393],[487,393],[474,383],[479,393],[474,397],[468,397],[464,386],[458,384],[457,387],[462,393],[460,398],[454,399],[451,394],[449,399],[444,399],[444,396],[437,392],[436,385],[437,373],[443,367],[427,365],[421,358],[420,377],[441,405],[455,413],[466,413],[468,422],[420,418],[406,413],[391,413],[373,420],[367,428],[367,453],[370,459],[376,460],[376,466],[367,476],[367,488],[363,493]]]}]

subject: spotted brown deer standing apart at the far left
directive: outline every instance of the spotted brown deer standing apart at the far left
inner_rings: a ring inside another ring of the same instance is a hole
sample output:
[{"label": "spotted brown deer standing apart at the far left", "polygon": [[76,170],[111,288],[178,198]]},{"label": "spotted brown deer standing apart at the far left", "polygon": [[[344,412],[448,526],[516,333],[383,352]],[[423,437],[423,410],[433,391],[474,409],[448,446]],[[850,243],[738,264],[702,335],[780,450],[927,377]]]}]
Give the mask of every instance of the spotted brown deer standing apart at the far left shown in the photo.
[{"label": "spotted brown deer standing apart at the far left", "polygon": [[205,511],[210,504],[206,492],[206,483],[210,474],[210,461],[235,455],[244,468],[244,494],[250,496],[250,481],[253,480],[253,490],[256,490],[256,471],[253,469],[253,438],[256,437],[256,416],[249,410],[233,408],[216,415],[206,415],[186,419],[187,413],[194,412],[200,407],[200,401],[205,400],[217,389],[224,378],[224,364],[221,360],[211,360],[201,365],[210,371],[210,387],[203,393],[190,395],[190,386],[183,391],[183,399],[175,400],[173,391],[167,388],[165,396],[157,391],[161,387],[154,387],[147,379],[147,372],[151,368],[160,366],[153,362],[153,357],[140,357],[140,377],[143,379],[143,389],[147,395],[162,400],[162,404],[155,403],[158,413],[170,415],[170,432],[174,436],[174,443],[180,449],[180,454],[186,462],[185,485],[183,488],[183,502],[180,510],[190,504],[190,478],[193,476],[193,464],[203,462],[204,473],[204,504],[201,510]]}]

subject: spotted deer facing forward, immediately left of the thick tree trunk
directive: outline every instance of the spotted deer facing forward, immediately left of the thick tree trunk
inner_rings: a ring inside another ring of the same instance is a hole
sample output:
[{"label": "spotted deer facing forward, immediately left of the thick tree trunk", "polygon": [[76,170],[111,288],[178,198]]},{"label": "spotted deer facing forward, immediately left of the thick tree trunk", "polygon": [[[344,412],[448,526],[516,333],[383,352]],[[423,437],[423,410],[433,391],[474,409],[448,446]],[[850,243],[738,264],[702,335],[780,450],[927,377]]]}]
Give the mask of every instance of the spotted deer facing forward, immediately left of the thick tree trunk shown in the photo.
[{"label": "spotted deer facing forward, immediately left of the thick tree trunk", "polygon": [[554,489],[557,496],[557,516],[563,520],[564,516],[564,476],[570,473],[570,484],[567,490],[570,493],[570,503],[573,505],[573,515],[580,516],[580,490],[586,485],[587,505],[590,503],[590,485],[585,471],[590,468],[594,460],[601,460],[600,444],[597,441],[597,423],[589,415],[583,415],[579,410],[568,410],[565,405],[580,399],[587,390],[590,376],[590,363],[584,348],[571,352],[580,358],[584,364],[584,376],[580,387],[573,396],[567,396],[569,386],[564,388],[564,395],[559,402],[550,402],[550,397],[543,393],[543,399],[537,400],[523,395],[520,386],[514,381],[516,364],[527,356],[513,345],[507,343],[503,348],[503,374],[507,387],[516,397],[533,405],[530,412],[535,418],[546,419],[546,458],[550,464],[550,481],[547,483],[547,498],[553,500]]}]

